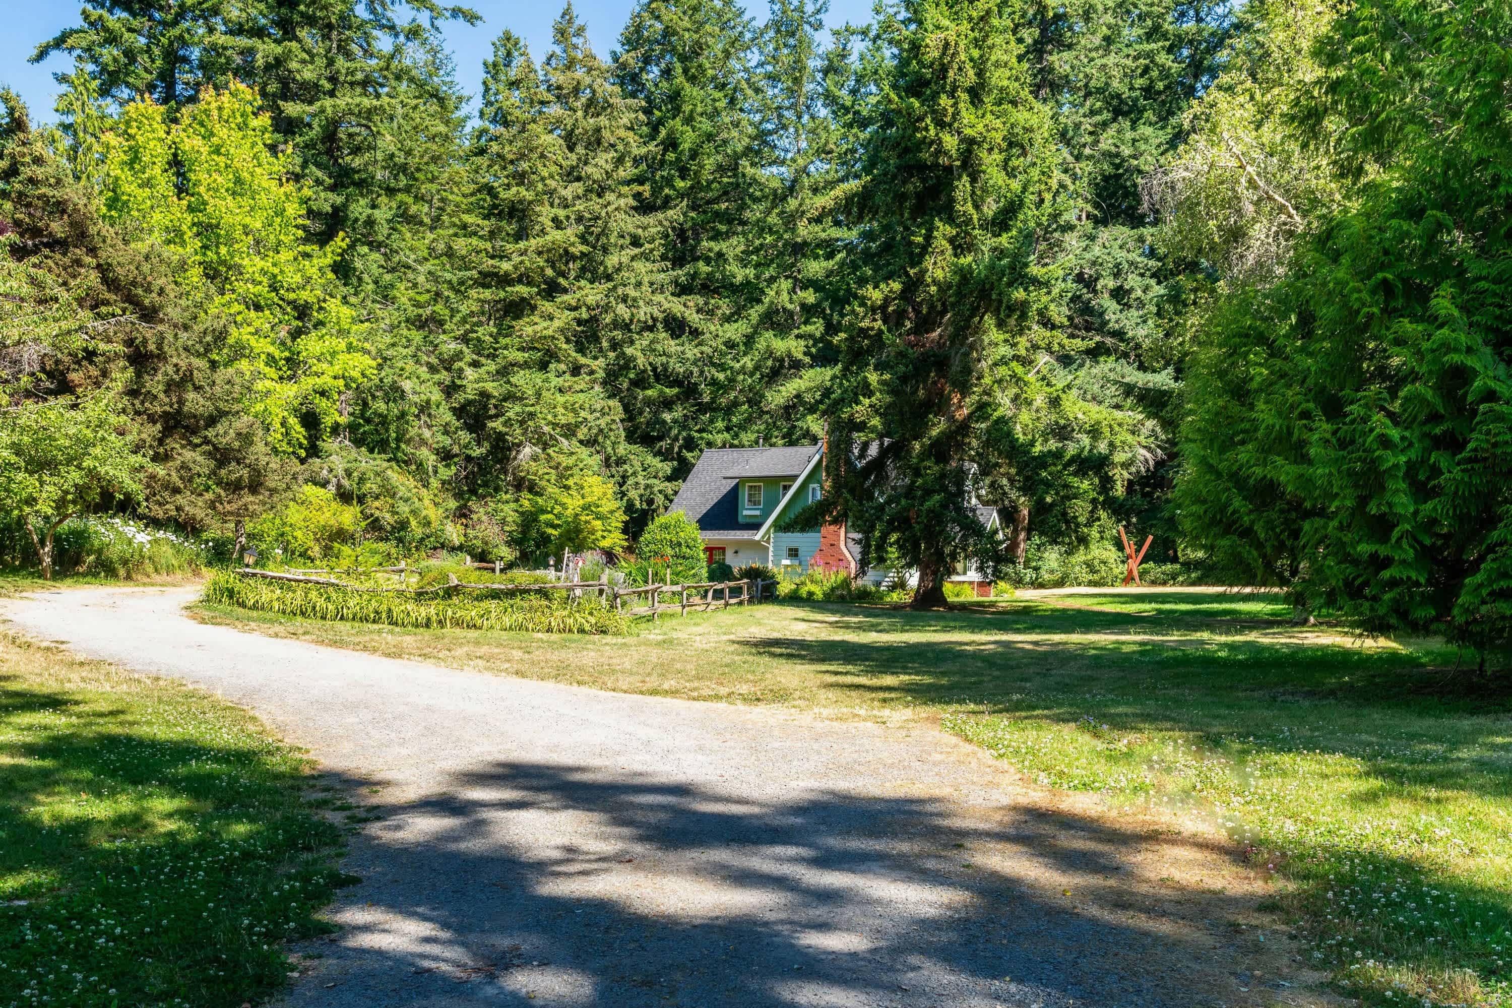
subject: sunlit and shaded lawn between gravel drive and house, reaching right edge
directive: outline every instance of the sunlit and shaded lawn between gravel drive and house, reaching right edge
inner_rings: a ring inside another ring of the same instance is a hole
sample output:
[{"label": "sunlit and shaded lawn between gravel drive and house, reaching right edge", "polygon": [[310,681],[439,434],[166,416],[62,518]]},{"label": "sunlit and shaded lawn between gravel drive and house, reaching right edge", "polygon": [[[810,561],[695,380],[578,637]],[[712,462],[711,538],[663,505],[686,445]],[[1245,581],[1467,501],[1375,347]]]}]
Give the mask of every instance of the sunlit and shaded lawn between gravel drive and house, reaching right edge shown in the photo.
[{"label": "sunlit and shaded lawn between gravel drive and house, reaching right edge", "polygon": [[1219,828],[1373,1005],[1512,1005],[1512,691],[1452,648],[1291,627],[1267,595],[1129,591],[951,614],[783,603],[631,638],[203,618],[484,673],[937,719],[1048,787]]}]

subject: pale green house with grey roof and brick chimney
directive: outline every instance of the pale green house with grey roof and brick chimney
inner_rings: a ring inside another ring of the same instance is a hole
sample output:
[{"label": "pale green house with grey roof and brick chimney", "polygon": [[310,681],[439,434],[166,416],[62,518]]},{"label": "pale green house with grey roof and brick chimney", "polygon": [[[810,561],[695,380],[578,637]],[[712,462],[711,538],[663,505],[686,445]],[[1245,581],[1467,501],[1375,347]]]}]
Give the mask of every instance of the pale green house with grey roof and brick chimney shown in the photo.
[{"label": "pale green house with grey roof and brick chimney", "polygon": [[[711,564],[767,564],[785,576],[810,570],[841,570],[885,582],[892,571],[868,567],[860,536],[844,524],[803,532],[782,532],[783,521],[824,493],[824,444],[783,447],[718,447],[706,450],[688,473],[668,511],[682,511],[703,536]],[[999,529],[996,508],[978,508],[989,529]],[[910,583],[912,573],[906,574]],[[992,594],[992,582],[962,567],[950,580],[971,583],[978,595]]]}]

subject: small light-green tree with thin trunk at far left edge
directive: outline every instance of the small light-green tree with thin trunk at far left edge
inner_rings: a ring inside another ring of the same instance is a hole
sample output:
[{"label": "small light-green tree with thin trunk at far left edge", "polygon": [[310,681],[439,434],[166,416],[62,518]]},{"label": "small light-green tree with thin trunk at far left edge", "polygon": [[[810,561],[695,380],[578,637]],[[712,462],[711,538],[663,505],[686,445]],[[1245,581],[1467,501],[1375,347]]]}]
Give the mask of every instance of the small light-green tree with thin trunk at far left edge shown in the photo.
[{"label": "small light-green tree with thin trunk at far left edge", "polygon": [[141,493],[147,464],[132,450],[115,396],[23,402],[0,413],[0,514],[18,518],[53,579],[53,535],[106,496]]}]

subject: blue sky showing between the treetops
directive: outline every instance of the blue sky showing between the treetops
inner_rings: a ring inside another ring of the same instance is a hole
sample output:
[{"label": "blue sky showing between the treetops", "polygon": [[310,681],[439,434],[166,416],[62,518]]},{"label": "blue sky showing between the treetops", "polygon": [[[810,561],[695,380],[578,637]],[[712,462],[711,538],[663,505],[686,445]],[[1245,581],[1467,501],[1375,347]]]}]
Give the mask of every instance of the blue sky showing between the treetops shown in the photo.
[{"label": "blue sky showing between the treetops", "polygon": [[[756,17],[765,15],[765,0],[747,0]],[[53,71],[67,71],[68,60],[53,56],[41,65],[27,63],[36,44],[57,35],[70,24],[79,23],[79,0],[0,0],[8,8],[5,30],[0,32],[0,83],[14,88],[32,107],[38,121],[53,118]],[[561,11],[559,0],[535,3],[510,3],[508,0],[473,0],[470,5],[482,15],[476,27],[452,24],[446,29],[446,41],[457,59],[457,80],[467,94],[478,94],[482,76],[482,60],[494,36],[503,29],[525,38],[532,53],[550,44],[552,20]],[[588,38],[594,48],[608,54],[629,17],[634,0],[578,0],[578,17],[588,24]],[[853,21],[862,24],[871,20],[871,0],[830,0],[829,23],[833,27]]]}]

